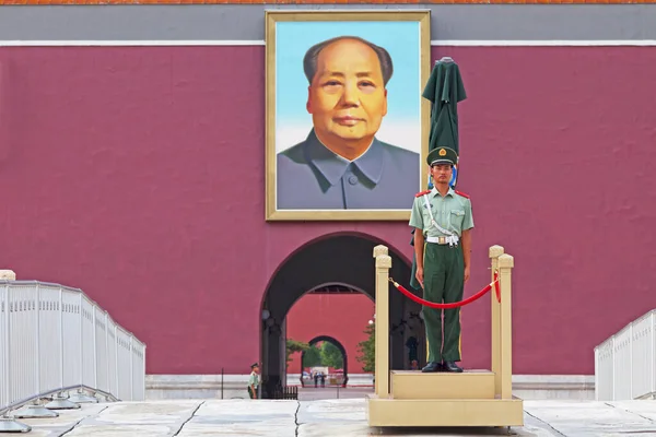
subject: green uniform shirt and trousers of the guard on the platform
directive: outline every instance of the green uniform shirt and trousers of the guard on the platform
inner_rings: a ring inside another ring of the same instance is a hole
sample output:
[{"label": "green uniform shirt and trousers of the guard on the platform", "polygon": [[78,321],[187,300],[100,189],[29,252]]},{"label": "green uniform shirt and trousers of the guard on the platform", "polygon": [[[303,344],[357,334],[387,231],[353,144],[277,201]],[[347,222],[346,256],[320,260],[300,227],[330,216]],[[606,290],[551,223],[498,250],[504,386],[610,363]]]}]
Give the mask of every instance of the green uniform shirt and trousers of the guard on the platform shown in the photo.
[{"label": "green uniform shirt and trousers of the guard on the platform", "polygon": [[[431,220],[426,200],[437,226]],[[445,197],[442,197],[436,188],[420,192],[414,198],[410,226],[422,229],[425,238],[424,299],[440,304],[462,300],[465,264],[459,238],[462,236],[462,231],[473,227],[469,198],[453,188],[449,188]],[[454,244],[455,236],[457,236],[457,244]],[[442,237],[444,241],[429,241],[436,237]],[[449,240],[452,244],[448,243]],[[423,307],[423,315],[429,339],[429,362],[460,361],[460,308],[444,310],[444,346],[442,346],[442,310]]]}]

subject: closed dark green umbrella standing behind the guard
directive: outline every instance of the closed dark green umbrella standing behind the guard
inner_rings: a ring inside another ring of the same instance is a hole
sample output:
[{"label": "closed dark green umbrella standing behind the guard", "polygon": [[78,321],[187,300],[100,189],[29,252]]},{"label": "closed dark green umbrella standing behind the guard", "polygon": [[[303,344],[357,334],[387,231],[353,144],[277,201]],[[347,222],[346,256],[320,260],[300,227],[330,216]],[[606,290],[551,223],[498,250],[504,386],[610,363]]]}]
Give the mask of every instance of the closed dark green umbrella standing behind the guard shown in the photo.
[{"label": "closed dark green umbrella standing behind the guard", "polygon": [[[460,141],[458,134],[458,103],[467,98],[460,68],[450,57],[443,57],[433,67],[431,76],[423,90],[422,97],[431,102],[431,130],[429,133],[429,153],[435,147],[450,147],[458,154],[458,165],[454,168],[450,186],[455,187],[459,163]],[[432,181],[429,181],[432,188]],[[412,229],[414,234],[414,229]],[[414,245],[414,238],[410,240]],[[412,257],[410,286],[420,290],[414,277],[417,259]]]}]

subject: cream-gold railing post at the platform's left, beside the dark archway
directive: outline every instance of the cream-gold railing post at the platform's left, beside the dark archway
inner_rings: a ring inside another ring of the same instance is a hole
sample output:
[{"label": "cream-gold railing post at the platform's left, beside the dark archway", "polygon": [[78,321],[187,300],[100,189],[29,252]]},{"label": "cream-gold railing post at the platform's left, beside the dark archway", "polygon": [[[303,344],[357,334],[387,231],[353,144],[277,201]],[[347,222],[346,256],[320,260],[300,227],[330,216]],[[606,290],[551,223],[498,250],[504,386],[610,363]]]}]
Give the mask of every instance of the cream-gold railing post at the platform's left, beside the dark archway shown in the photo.
[{"label": "cream-gold railing post at the platform's left, beside the dark archway", "polygon": [[375,390],[378,398],[389,397],[389,269],[391,257],[387,247],[374,247],[376,259],[376,378]]}]

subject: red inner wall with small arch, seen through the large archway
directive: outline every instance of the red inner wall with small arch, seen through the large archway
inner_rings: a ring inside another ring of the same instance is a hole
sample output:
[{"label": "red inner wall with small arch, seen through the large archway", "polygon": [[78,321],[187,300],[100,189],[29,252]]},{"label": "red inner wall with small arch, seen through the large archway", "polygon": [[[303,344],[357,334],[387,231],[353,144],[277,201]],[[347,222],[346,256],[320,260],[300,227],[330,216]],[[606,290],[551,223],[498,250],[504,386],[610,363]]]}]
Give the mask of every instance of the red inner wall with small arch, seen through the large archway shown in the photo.
[{"label": "red inner wall with small arch, seen through the large archway", "polygon": [[[290,309],[286,317],[286,338],[309,342],[331,336],[344,346],[349,374],[361,374],[358,343],[366,340],[364,330],[375,312],[374,302],[363,294],[306,294]],[[292,355],[289,374],[301,370],[301,354]]]}]

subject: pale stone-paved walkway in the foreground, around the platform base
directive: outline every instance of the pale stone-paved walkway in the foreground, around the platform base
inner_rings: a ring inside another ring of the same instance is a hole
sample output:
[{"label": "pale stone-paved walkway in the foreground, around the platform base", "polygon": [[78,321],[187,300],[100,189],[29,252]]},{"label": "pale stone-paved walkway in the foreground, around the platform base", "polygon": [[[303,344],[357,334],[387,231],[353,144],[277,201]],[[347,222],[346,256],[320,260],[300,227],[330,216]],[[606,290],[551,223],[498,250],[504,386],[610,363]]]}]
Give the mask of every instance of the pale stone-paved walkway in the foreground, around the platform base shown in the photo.
[{"label": "pale stone-paved walkway in the foreground, around the platform base", "polygon": [[[364,399],[179,400],[83,404],[57,418],[22,420],[30,437],[491,436],[505,428],[370,428]],[[516,436],[656,436],[656,401],[525,401]]]}]

